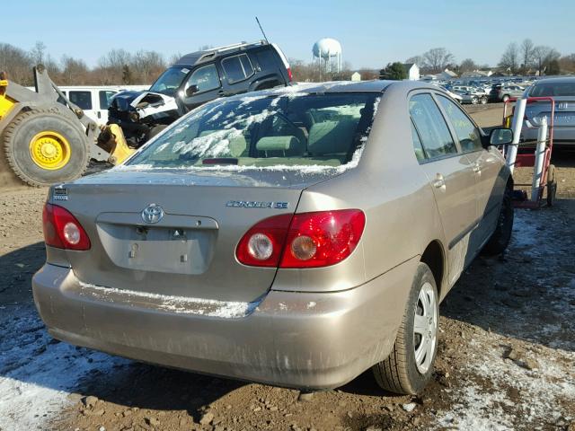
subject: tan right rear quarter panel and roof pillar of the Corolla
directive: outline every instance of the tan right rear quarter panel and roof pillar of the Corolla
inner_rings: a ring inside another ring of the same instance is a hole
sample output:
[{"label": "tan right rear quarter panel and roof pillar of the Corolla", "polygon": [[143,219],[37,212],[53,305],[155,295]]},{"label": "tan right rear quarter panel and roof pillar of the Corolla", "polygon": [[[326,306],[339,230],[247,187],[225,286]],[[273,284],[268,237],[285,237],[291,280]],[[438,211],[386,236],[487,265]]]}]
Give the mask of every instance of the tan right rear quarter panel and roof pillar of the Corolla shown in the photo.
[{"label": "tan right rear quarter panel and roof pillar of the Corolla", "polygon": [[413,152],[406,92],[403,83],[386,90],[358,167],[306,189],[297,207],[363,210],[366,228],[358,249],[334,267],[281,269],[274,288],[351,288],[419,256],[429,242],[445,243],[433,192]]}]

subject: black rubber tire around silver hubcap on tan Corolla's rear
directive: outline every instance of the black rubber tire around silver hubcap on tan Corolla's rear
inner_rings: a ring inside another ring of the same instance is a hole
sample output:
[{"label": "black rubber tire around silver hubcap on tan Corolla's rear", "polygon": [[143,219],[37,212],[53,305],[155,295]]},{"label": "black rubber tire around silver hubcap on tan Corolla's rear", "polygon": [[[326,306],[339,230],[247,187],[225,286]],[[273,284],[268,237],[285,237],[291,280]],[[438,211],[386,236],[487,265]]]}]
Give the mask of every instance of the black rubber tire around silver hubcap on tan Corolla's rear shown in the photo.
[{"label": "black rubber tire around silver hubcap on tan Corolla's rear", "polygon": [[[413,327],[420,290],[427,283],[433,287],[436,298],[436,339],[429,369],[424,374],[421,374],[415,362],[415,347],[418,340],[413,332]],[[413,277],[410,295],[403,313],[403,321],[397,332],[394,347],[384,361],[374,365],[372,368],[377,384],[386,391],[400,394],[417,394],[429,383],[431,374],[433,374],[433,362],[438,351],[438,303],[438,287],[436,286],[435,278],[429,267],[425,263],[420,262]]]}]

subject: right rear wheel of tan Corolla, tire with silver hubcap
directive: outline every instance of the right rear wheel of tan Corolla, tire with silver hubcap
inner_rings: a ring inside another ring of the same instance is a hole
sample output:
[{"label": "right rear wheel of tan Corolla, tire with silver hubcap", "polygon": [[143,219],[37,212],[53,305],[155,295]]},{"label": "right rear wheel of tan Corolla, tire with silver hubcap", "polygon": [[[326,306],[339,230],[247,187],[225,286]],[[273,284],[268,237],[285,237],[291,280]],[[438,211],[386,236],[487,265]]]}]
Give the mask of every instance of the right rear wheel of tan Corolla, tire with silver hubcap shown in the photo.
[{"label": "right rear wheel of tan Corolla, tire with silver hubcap", "polygon": [[420,262],[392,352],[373,366],[377,384],[386,391],[416,394],[429,382],[438,350],[438,304],[435,278]]}]

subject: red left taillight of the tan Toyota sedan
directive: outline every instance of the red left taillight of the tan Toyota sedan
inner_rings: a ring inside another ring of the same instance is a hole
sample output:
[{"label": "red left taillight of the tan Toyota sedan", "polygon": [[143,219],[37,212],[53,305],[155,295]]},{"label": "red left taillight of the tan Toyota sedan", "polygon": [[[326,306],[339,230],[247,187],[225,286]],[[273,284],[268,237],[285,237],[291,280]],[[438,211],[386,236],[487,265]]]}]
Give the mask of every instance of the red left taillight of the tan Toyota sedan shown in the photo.
[{"label": "red left taillight of the tan Toyota sedan", "polygon": [[90,238],[82,224],[63,207],[46,204],[42,213],[44,241],[50,247],[67,250],[89,250]]}]

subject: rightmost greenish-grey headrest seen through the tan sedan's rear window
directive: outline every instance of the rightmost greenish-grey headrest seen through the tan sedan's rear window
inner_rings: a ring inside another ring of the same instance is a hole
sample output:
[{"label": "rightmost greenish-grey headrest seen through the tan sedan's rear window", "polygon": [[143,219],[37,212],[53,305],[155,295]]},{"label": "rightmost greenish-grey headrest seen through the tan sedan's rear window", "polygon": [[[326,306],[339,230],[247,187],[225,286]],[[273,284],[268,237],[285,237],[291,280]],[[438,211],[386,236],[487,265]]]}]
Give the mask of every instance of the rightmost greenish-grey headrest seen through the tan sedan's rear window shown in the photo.
[{"label": "rightmost greenish-grey headrest seen through the tan sedan's rear window", "polygon": [[358,122],[350,119],[315,123],[309,130],[307,151],[310,154],[347,153]]}]

